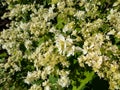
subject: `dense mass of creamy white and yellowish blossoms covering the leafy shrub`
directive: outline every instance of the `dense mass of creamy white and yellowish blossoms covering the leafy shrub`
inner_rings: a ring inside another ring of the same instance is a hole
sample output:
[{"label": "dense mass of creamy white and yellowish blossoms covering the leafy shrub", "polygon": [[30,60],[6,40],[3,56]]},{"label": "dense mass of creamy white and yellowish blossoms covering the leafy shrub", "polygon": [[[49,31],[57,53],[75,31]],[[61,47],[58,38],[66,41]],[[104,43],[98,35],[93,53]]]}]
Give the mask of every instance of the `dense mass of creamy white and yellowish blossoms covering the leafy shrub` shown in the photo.
[{"label": "dense mass of creamy white and yellowish blossoms covering the leafy shrub", "polygon": [[120,89],[120,0],[25,1],[3,2],[9,10],[3,18],[11,23],[0,32],[0,49],[8,54],[0,68],[9,72],[0,83],[25,72],[21,78],[29,90],[68,88],[69,58],[81,53],[80,68],[92,67],[110,90]]}]

